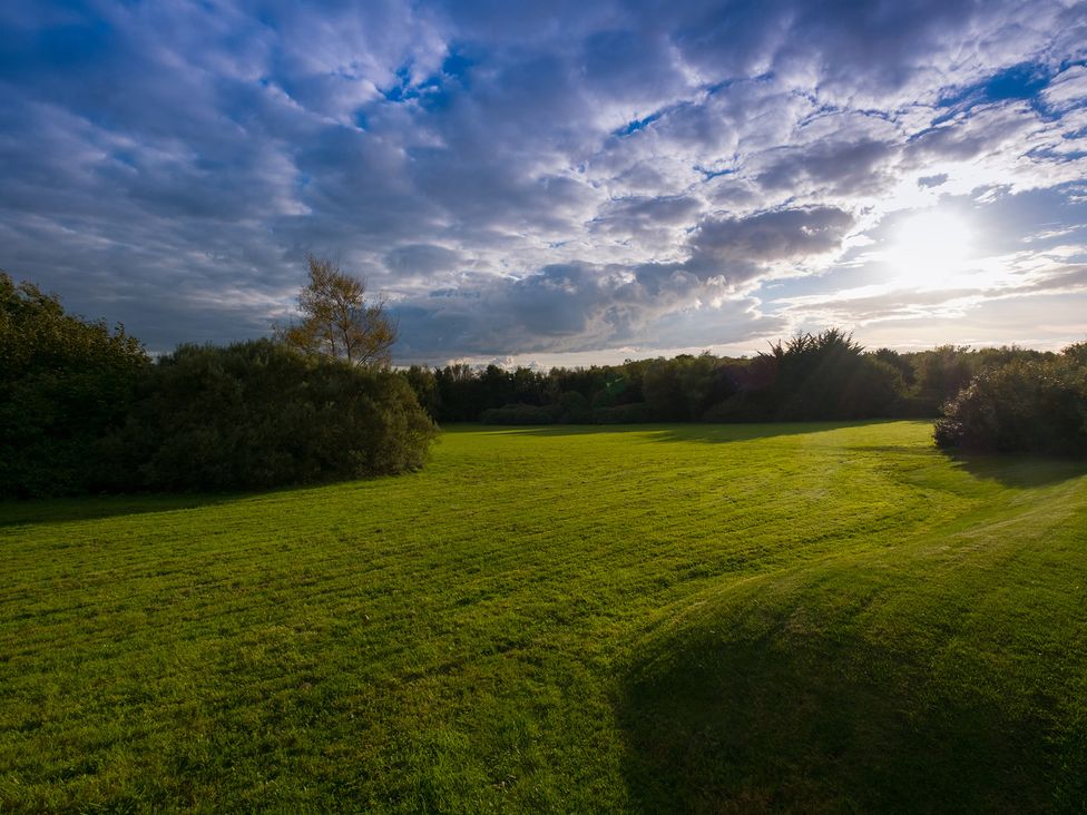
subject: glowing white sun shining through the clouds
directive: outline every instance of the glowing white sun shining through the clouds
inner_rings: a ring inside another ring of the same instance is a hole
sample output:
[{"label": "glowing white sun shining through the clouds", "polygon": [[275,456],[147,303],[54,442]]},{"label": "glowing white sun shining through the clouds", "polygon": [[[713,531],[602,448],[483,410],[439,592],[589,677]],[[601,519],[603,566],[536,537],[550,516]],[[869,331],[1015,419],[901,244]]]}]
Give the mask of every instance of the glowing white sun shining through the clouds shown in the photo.
[{"label": "glowing white sun shining through the clouds", "polygon": [[947,288],[968,267],[973,234],[969,222],[949,212],[910,215],[892,233],[884,257],[895,279],[917,288]]}]

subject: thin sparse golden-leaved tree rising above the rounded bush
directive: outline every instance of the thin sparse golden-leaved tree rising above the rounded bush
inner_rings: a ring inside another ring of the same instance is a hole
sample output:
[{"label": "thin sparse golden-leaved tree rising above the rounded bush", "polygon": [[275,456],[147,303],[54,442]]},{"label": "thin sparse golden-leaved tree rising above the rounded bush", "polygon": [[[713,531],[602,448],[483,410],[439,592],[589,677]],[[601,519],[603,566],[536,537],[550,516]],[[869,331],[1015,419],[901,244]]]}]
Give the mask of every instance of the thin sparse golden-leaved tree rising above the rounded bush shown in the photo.
[{"label": "thin sparse golden-leaved tree rising above the rounded bush", "polygon": [[306,354],[385,366],[398,328],[385,301],[366,298],[366,281],[344,273],[329,258],[306,256],[310,282],[298,294],[302,321],[276,327],[276,337]]}]

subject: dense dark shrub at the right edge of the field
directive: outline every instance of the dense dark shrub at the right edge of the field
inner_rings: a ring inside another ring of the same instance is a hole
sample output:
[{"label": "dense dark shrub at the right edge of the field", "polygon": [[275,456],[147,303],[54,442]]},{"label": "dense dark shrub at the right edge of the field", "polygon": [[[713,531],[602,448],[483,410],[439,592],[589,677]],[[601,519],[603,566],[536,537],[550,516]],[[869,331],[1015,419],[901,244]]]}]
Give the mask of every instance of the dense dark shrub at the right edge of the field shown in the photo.
[{"label": "dense dark shrub at the right edge of the field", "polygon": [[971,380],[944,406],[943,448],[1087,456],[1087,345],[1015,360]]}]

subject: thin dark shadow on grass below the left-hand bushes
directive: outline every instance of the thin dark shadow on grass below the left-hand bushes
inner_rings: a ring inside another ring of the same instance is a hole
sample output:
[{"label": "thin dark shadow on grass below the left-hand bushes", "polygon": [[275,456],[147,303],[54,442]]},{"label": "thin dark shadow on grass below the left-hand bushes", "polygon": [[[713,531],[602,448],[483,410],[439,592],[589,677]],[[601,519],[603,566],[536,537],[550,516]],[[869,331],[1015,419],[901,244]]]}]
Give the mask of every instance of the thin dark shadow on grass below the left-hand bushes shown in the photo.
[{"label": "thin dark shadow on grass below the left-hand bushes", "polygon": [[[246,493],[248,494],[248,493]],[[174,512],[232,503],[244,494],[94,495],[0,501],[0,529],[39,523],[91,521],[121,515]]]}]

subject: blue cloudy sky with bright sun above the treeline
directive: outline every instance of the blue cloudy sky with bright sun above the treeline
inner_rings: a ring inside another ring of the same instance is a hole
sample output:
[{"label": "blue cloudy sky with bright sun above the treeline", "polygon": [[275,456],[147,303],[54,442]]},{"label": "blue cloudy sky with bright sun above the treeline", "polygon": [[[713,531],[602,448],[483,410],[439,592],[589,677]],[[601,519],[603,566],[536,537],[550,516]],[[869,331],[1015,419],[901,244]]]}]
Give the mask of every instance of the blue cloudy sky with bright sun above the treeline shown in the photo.
[{"label": "blue cloudy sky with bright sun above the treeline", "polygon": [[0,269],[153,352],[305,257],[400,364],[1087,340],[1087,3],[0,3]]}]

